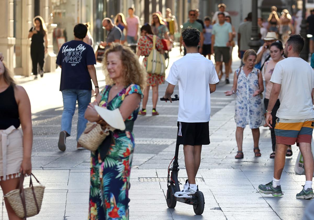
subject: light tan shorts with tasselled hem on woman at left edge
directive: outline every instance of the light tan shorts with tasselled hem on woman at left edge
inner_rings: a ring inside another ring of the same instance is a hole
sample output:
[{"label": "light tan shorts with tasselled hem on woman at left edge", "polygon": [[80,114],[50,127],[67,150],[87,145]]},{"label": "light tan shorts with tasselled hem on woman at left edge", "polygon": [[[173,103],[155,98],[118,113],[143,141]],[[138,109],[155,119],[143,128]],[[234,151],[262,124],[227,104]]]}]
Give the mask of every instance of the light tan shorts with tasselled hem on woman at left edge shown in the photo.
[{"label": "light tan shorts with tasselled hem on woman at left edge", "polygon": [[[23,160],[23,135],[12,125],[0,130],[0,180],[13,178],[19,174]],[[2,178],[3,177],[3,178]]]}]

